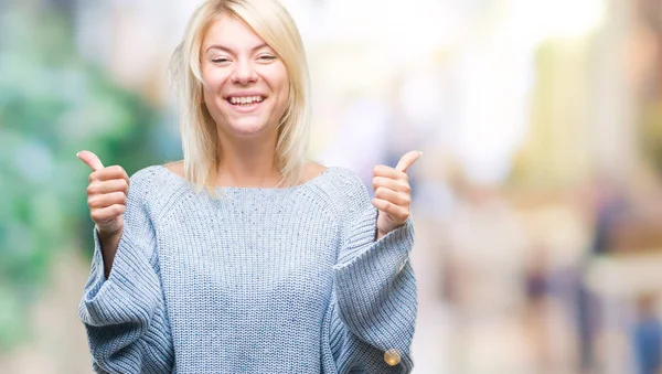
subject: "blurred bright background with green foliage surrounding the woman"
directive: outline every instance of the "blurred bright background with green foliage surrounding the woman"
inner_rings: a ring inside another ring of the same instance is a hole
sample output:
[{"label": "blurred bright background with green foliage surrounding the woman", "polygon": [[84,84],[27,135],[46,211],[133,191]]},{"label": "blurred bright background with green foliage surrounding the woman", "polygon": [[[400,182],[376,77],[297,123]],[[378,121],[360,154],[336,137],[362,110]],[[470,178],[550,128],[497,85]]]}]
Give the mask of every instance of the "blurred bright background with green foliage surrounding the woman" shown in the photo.
[{"label": "blurred bright background with green foliage surrounding the woman", "polygon": [[[0,373],[89,373],[89,149],[181,158],[200,1],[0,0]],[[662,1],[287,0],[311,158],[410,170],[415,374],[660,373]]]}]

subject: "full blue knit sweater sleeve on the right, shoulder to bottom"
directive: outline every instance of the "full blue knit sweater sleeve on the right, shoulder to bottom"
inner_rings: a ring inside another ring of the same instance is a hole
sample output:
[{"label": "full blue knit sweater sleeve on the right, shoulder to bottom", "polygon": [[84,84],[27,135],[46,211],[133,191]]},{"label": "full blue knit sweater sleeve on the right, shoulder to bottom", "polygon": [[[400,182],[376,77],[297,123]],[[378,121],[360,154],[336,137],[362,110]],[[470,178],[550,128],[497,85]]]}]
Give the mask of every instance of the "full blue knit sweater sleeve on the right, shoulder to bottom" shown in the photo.
[{"label": "full blue knit sweater sleeve on the right, shoulder to bottom", "polygon": [[335,367],[339,373],[409,373],[417,311],[416,279],[408,255],[414,243],[413,222],[407,220],[375,242],[377,210],[363,182],[355,174],[350,179],[327,314]]}]

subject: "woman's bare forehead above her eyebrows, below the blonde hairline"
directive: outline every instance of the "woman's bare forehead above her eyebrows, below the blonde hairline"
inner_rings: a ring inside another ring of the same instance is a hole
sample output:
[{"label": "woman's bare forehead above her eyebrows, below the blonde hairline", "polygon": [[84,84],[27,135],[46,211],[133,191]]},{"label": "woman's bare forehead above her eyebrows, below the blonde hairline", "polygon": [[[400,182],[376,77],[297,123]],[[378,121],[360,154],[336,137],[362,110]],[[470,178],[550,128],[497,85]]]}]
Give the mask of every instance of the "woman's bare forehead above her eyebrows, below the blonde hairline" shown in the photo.
[{"label": "woman's bare forehead above her eyebrows, below the blonde hairline", "polygon": [[264,43],[264,40],[246,22],[226,14],[212,20],[202,42],[205,49],[212,44],[223,44],[236,50],[250,50]]}]

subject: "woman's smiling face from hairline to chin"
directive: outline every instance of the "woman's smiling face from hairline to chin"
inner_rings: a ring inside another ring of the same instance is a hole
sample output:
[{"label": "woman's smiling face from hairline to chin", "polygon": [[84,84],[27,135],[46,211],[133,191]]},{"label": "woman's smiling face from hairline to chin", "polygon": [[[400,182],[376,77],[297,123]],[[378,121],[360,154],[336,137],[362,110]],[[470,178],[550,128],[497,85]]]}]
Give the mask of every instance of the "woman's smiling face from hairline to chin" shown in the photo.
[{"label": "woman's smiling face from hairline to chin", "polygon": [[204,103],[221,133],[276,133],[287,107],[285,64],[247,24],[222,15],[207,30],[201,50]]}]

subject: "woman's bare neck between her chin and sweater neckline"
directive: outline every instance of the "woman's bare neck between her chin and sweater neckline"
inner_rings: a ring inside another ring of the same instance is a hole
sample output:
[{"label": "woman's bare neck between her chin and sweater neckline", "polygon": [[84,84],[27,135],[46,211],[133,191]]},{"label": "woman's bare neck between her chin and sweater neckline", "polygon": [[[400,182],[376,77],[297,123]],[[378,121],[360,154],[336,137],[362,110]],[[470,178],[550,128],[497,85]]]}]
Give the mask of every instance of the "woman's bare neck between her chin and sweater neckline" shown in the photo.
[{"label": "woman's bare neck between her chin and sweater neckline", "polygon": [[280,181],[276,167],[277,133],[259,140],[221,137],[218,185],[274,188]]}]

